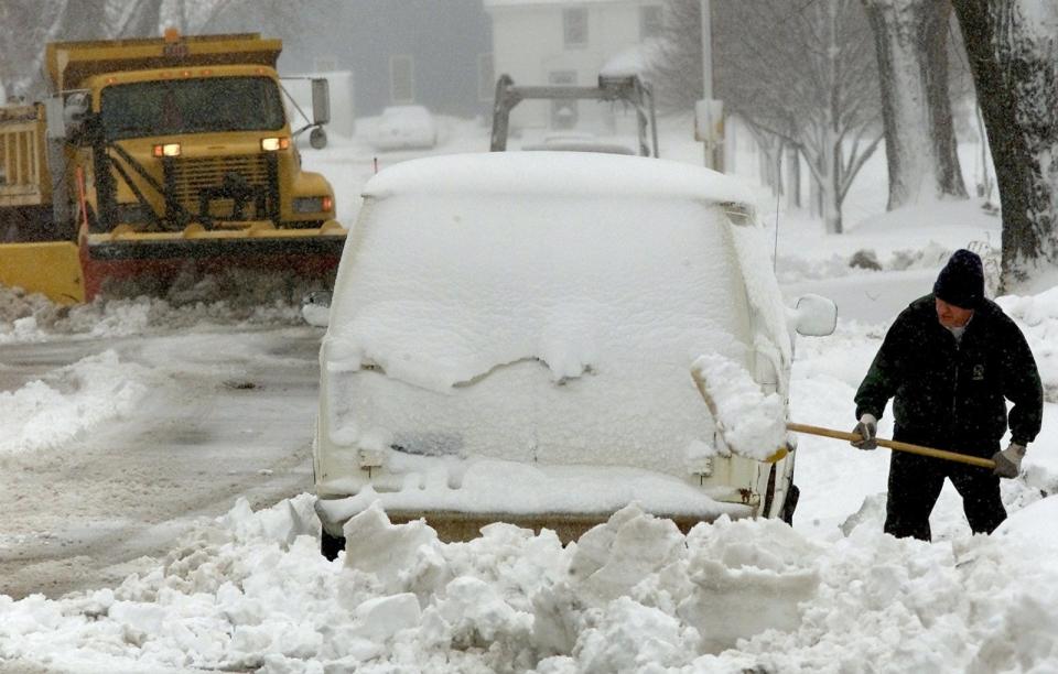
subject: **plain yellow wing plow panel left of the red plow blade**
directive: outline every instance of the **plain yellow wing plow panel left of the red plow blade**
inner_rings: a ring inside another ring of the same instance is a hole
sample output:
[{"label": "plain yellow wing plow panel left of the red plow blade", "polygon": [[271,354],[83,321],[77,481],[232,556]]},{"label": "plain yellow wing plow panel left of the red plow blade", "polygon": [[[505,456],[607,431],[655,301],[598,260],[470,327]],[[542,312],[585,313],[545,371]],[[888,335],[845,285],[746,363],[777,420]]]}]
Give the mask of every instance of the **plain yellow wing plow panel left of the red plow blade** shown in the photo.
[{"label": "plain yellow wing plow panel left of the red plow blade", "polygon": [[0,244],[0,284],[42,293],[56,304],[86,301],[80,250],[72,241]]}]

